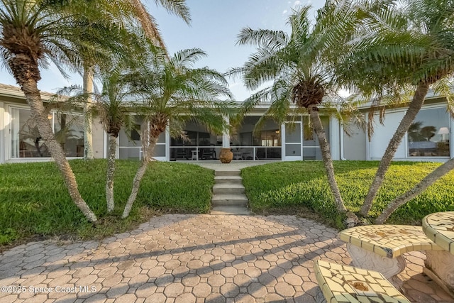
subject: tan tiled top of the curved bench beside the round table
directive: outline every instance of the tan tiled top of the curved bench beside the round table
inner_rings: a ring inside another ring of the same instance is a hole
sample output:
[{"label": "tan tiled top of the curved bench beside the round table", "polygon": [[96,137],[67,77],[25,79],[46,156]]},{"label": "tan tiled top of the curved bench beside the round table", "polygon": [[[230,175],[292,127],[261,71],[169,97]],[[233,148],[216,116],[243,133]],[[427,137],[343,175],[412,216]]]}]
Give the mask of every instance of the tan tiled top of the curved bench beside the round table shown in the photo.
[{"label": "tan tiled top of the curved bench beside the round table", "polygon": [[421,226],[368,225],[348,228],[339,237],[342,241],[370,250],[377,255],[396,258],[413,250],[441,250],[423,233]]}]

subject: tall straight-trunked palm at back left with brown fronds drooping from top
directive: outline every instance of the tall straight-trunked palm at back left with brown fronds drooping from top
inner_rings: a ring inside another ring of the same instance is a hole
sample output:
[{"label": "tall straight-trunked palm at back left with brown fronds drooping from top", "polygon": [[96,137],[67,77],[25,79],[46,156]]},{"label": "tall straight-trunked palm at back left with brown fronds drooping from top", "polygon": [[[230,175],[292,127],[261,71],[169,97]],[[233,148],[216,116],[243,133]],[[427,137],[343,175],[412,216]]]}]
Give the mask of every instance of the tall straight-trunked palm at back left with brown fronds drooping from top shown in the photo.
[{"label": "tall straight-trunked palm at back left with brown fronds drooping from top", "polygon": [[[175,13],[175,15],[182,18],[186,23],[189,24],[191,21],[189,15],[189,9],[185,3],[185,0],[155,0],[156,4],[160,4],[162,7],[167,9],[170,13]],[[156,46],[159,46],[165,50],[165,43],[162,40],[160,31],[157,28],[157,23],[155,18],[148,13],[145,5],[140,0],[126,0],[123,1],[123,6],[118,7],[116,2],[111,2],[112,7],[111,12],[118,14],[118,10],[123,11],[125,16],[128,16],[131,21],[138,21],[140,26],[143,28],[145,37],[153,41]],[[95,23],[91,23],[90,26],[96,26]],[[109,62],[109,60],[107,60]],[[94,66],[96,63],[93,58],[87,57],[84,59],[84,68],[83,68],[83,87],[85,96],[87,99],[84,104],[84,158],[92,159],[93,158],[93,143],[92,143],[92,96],[94,92],[93,80],[94,80]]]}]

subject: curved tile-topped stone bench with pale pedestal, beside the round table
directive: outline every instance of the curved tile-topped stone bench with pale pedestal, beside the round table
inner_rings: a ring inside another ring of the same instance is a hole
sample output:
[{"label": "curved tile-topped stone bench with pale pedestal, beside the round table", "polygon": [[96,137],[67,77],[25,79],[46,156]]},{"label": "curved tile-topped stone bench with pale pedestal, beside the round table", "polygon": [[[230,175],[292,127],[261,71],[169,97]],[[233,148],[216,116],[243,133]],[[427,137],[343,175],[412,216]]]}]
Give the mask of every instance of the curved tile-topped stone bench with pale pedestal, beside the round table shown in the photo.
[{"label": "curved tile-topped stone bench with pale pedestal, beside the round table", "polygon": [[376,270],[398,288],[402,282],[396,275],[405,268],[402,254],[413,250],[443,250],[423,233],[421,226],[356,226],[341,231],[339,237],[347,242],[353,266]]}]

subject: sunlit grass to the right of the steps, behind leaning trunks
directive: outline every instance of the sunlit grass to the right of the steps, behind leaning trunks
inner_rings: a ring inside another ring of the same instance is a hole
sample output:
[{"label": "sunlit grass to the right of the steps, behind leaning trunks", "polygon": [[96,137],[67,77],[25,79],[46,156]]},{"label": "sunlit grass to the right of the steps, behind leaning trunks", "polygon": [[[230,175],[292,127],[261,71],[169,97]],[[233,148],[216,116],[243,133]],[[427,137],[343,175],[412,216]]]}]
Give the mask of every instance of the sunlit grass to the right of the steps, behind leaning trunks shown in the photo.
[{"label": "sunlit grass to the right of the steps, behind leaning trunks", "polygon": [[[411,189],[438,165],[440,163],[393,162],[372,206],[371,219],[377,217],[388,202]],[[334,162],[336,180],[349,210],[359,211],[377,167],[378,162],[375,161]],[[247,167],[241,175],[253,212],[299,212],[303,216],[315,212],[325,223],[342,227],[342,218],[336,214],[323,162],[276,162]],[[420,225],[423,216],[449,210],[454,210],[454,172],[399,207],[387,223]]]}]

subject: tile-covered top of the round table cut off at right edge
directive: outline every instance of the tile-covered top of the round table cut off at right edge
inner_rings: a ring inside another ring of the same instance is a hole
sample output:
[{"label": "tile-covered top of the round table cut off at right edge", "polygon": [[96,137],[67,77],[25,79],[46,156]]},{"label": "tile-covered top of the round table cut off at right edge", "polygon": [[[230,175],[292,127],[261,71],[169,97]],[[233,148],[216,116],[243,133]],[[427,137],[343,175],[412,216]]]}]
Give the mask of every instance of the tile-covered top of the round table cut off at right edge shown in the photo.
[{"label": "tile-covered top of the round table cut off at right edge", "polygon": [[454,255],[454,211],[443,211],[425,216],[423,231],[438,246]]}]

